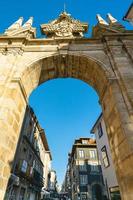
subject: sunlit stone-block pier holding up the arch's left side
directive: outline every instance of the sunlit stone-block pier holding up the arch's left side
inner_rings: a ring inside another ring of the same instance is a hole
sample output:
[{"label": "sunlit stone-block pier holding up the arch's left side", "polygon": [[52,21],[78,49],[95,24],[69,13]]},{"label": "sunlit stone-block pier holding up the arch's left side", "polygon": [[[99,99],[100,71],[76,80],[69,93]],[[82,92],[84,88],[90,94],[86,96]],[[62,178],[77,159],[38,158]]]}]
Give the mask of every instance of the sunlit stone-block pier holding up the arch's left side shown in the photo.
[{"label": "sunlit stone-block pier holding up the arch's left side", "polygon": [[3,200],[17,147],[26,99],[19,81],[0,82],[0,200]]}]

